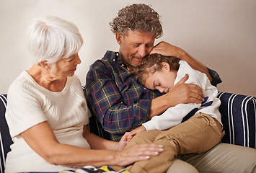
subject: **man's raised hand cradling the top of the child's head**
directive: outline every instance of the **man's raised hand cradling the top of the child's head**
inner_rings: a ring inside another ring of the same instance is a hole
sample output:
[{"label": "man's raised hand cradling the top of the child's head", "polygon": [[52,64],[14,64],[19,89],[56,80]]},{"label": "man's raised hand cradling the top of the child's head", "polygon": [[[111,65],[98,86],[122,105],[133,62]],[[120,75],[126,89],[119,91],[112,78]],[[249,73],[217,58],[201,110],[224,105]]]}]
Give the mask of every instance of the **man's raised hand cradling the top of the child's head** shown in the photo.
[{"label": "man's raised hand cradling the top of the child's head", "polygon": [[154,46],[150,54],[153,54],[153,53],[159,53],[162,56],[175,56],[180,59],[182,59],[182,57],[185,55],[184,50],[164,41]]}]

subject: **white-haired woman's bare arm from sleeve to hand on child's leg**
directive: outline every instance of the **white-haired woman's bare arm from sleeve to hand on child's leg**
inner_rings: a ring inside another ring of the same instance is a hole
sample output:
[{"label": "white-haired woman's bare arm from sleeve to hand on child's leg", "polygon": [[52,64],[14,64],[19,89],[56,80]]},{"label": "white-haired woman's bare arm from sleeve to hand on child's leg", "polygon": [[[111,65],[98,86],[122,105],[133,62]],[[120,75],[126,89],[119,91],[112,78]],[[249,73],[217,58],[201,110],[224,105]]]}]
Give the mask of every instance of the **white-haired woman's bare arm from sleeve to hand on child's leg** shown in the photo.
[{"label": "white-haired woman's bare arm from sleeve to hand on child's leg", "polygon": [[[137,145],[121,151],[95,150],[66,145],[58,142],[47,122],[39,123],[25,130],[22,133],[22,138],[50,164],[74,168],[84,167],[85,165],[94,167],[103,165],[125,166],[135,161],[149,159],[149,156],[157,155],[155,151],[161,151],[159,146],[153,144]],[[89,137],[89,141],[90,138],[92,137]],[[100,139],[98,137],[97,142],[104,143],[100,144],[103,149],[107,142]]]}]

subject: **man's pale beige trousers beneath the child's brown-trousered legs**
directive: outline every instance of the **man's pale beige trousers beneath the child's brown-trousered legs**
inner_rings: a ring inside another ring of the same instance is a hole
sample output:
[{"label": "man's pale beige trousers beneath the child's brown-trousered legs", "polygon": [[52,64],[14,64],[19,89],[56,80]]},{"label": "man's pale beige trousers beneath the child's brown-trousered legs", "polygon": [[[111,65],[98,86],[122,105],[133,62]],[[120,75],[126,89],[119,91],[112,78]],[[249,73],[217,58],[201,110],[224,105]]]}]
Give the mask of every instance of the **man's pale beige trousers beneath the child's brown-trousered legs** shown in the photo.
[{"label": "man's pale beige trousers beneath the child's brown-trousered legs", "polygon": [[256,173],[256,149],[228,143],[203,154],[177,156],[167,173]]}]

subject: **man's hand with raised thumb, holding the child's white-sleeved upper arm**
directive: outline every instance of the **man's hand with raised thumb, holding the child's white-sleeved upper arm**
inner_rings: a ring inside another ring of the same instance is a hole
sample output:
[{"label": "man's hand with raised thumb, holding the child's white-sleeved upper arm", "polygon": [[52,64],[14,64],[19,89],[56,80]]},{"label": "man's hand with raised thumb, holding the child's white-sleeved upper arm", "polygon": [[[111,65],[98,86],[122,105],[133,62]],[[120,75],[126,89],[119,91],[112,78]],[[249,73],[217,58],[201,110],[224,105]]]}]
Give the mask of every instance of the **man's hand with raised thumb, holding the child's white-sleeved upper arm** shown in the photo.
[{"label": "man's hand with raised thumb, holding the child's white-sleeved upper arm", "polygon": [[172,104],[177,105],[180,103],[197,103],[203,102],[205,95],[203,89],[195,84],[184,84],[187,81],[188,75],[186,74],[180,81],[175,84],[166,97],[172,99]]}]

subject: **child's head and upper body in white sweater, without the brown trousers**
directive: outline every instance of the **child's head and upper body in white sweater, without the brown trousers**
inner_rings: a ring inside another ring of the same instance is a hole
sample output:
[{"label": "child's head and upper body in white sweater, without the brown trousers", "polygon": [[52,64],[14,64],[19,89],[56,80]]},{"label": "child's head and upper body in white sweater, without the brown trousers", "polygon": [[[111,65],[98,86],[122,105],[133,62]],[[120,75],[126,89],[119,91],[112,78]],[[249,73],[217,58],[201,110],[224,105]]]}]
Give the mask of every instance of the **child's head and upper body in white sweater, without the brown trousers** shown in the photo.
[{"label": "child's head and upper body in white sweater, without the brown trousers", "polygon": [[211,85],[206,74],[194,70],[186,61],[180,61],[175,57],[152,54],[147,56],[135,71],[136,78],[141,84],[149,89],[157,89],[159,92],[165,93],[170,92],[172,87],[187,74],[189,78],[185,83],[197,84],[206,95],[202,104],[179,104],[170,107],[160,116],[154,116],[150,121],[143,124],[145,130],[166,130],[199,112],[211,115],[221,123],[219,112],[221,101],[217,98],[217,88]]}]

